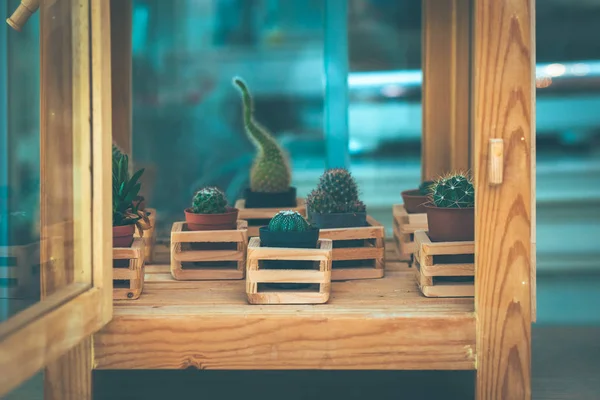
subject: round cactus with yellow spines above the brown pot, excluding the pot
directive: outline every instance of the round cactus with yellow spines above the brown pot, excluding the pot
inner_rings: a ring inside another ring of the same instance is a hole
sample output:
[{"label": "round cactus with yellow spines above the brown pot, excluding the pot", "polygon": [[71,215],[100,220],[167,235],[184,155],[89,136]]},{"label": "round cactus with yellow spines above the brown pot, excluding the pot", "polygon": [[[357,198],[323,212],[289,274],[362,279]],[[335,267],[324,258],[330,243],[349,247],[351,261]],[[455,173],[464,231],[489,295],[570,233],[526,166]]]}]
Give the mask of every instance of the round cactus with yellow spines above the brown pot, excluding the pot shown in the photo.
[{"label": "round cactus with yellow spines above the brown pot, excluding the pot", "polygon": [[441,177],[433,184],[431,197],[437,207],[472,208],[475,206],[475,189],[466,174]]}]

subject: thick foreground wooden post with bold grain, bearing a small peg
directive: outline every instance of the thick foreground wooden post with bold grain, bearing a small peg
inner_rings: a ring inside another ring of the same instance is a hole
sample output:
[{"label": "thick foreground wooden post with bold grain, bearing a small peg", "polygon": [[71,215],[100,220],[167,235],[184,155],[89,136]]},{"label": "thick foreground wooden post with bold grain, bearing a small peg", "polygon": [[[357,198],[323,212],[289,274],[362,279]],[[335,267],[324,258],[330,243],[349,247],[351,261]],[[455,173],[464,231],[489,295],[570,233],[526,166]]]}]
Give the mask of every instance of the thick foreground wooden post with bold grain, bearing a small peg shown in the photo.
[{"label": "thick foreground wooden post with bold grain, bearing a small peg", "polygon": [[[531,398],[534,1],[475,0],[477,398]],[[488,181],[489,140],[504,179]]]}]

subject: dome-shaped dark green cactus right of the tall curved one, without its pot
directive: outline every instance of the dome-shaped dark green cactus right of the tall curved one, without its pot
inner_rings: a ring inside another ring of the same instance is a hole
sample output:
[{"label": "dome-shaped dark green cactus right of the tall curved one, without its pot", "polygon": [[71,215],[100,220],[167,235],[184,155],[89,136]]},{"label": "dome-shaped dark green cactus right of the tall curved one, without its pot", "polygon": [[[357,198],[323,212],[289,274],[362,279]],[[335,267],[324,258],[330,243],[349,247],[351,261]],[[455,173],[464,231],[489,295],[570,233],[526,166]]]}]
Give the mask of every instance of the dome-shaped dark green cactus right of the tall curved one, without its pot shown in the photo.
[{"label": "dome-shaped dark green cactus right of the tall curved one, without its pot", "polygon": [[310,212],[320,214],[365,212],[358,199],[358,186],[350,172],[343,168],[325,171],[317,188],[307,198]]}]

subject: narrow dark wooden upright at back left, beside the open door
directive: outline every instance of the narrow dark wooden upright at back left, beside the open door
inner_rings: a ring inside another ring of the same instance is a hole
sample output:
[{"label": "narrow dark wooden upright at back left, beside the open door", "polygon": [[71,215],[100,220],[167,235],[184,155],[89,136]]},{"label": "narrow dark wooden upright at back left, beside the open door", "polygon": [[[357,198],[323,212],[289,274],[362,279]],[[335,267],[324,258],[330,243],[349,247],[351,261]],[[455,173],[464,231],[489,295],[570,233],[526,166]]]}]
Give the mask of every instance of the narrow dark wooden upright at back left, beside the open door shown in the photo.
[{"label": "narrow dark wooden upright at back left, beside the open door", "polygon": [[112,137],[131,156],[132,144],[132,0],[110,1],[110,54],[112,75]]}]

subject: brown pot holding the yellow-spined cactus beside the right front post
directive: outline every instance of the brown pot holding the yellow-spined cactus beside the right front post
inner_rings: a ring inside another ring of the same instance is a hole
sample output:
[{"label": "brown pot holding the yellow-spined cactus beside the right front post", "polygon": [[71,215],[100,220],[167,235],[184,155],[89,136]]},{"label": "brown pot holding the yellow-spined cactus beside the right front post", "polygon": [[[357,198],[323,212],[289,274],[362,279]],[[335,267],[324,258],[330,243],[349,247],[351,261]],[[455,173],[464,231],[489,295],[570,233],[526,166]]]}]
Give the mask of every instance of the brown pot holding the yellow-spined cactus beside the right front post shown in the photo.
[{"label": "brown pot holding the yellow-spined cactus beside the right front post", "polygon": [[475,239],[474,208],[443,208],[426,205],[432,242],[463,242]]}]

